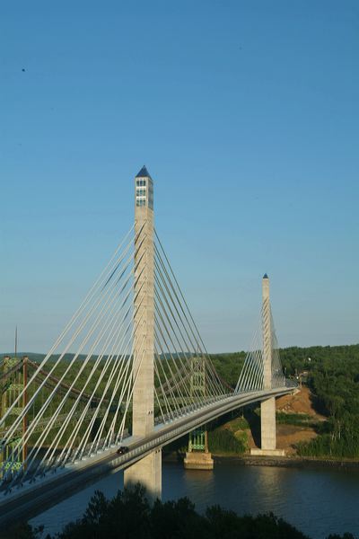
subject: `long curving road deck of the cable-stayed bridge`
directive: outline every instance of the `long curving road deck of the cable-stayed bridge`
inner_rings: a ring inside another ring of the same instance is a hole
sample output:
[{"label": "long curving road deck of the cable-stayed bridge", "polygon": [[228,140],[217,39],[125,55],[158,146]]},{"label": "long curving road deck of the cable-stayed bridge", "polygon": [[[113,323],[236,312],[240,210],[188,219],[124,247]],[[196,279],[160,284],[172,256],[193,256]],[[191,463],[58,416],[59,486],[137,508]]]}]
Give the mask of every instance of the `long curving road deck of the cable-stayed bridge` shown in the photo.
[{"label": "long curving road deck of the cable-stayed bridge", "polygon": [[157,425],[150,437],[128,437],[126,442],[130,450],[126,455],[118,456],[116,447],[113,447],[86,460],[66,464],[63,469],[57,470],[57,473],[48,473],[35,482],[26,482],[12,492],[0,495],[0,529],[13,523],[15,519],[35,517],[103,475],[135,464],[156,448],[171,443],[229,411],[251,402],[260,402],[271,396],[278,397],[292,392],[293,387],[280,387],[261,392],[227,395],[201,409],[188,412],[184,417]]}]

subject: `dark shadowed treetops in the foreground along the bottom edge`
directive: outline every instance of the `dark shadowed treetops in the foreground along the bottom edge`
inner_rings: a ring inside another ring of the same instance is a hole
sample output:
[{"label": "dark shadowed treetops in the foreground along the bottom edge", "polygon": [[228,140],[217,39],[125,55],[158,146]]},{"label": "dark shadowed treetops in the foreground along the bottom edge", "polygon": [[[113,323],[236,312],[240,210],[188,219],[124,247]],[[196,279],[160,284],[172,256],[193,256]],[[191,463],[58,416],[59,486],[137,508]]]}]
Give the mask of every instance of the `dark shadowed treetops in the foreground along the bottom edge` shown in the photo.
[{"label": "dark shadowed treetops in the foreground along the bottom edge", "polygon": [[[17,526],[9,539],[36,539],[41,528]],[[272,513],[239,517],[233,511],[214,506],[205,515],[197,513],[188,498],[150,505],[143,487],[118,491],[106,499],[96,491],[77,522],[67,524],[57,539],[310,539]],[[51,539],[50,535],[47,539]],[[355,539],[354,535],[329,535],[327,539]]]}]

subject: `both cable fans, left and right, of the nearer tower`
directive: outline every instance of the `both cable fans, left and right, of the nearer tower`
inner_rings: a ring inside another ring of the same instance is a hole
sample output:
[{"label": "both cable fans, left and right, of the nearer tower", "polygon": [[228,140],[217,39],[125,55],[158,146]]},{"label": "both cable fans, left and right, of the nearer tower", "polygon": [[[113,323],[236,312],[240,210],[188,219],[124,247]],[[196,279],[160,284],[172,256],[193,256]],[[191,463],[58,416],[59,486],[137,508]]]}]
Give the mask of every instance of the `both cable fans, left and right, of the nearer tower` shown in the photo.
[{"label": "both cable fans, left and right, of the nearer tower", "polygon": [[[155,421],[166,422],[229,391],[155,237]],[[130,229],[46,357],[31,364],[26,387],[3,411],[0,477],[7,488],[128,436],[137,375],[134,343],[142,322],[136,299],[144,297],[145,286],[144,239],[144,226],[137,234],[134,226]]]}]

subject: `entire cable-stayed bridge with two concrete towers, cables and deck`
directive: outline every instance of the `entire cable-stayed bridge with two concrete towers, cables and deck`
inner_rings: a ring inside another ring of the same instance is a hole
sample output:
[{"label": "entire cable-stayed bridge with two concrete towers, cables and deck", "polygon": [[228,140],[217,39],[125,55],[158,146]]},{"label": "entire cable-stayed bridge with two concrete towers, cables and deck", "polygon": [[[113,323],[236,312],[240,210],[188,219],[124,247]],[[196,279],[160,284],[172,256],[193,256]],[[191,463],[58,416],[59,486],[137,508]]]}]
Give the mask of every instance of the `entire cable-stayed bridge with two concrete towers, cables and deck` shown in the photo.
[{"label": "entire cable-stayed bridge with two concrete towers, cables and deck", "polygon": [[[119,469],[125,484],[142,482],[160,497],[162,446],[195,432],[192,442],[206,452],[198,430],[252,402],[264,402],[262,449],[276,448],[275,398],[293,387],[280,367],[267,277],[263,338],[233,390],[215,371],[153,217],[153,180],[143,167],[135,224],[45,358],[27,360],[27,379],[1,409],[0,526]],[[23,365],[3,364],[3,393]],[[127,451],[118,454],[119,446]]]}]

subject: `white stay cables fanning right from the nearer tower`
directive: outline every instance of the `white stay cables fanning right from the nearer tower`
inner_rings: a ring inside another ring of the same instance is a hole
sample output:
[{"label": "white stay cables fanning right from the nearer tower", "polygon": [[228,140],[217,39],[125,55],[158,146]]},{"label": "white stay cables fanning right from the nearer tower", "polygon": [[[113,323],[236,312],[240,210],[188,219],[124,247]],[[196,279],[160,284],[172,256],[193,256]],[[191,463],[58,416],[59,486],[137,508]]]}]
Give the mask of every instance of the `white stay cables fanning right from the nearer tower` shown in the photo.
[{"label": "white stay cables fanning right from the nearer tower", "polygon": [[162,243],[154,244],[155,402],[158,420],[232,393],[212,365]]}]

